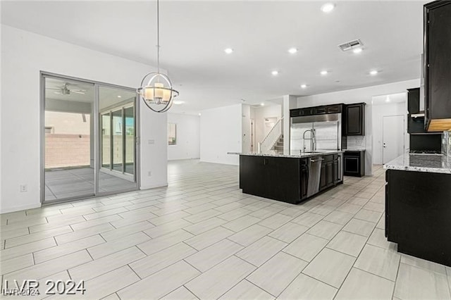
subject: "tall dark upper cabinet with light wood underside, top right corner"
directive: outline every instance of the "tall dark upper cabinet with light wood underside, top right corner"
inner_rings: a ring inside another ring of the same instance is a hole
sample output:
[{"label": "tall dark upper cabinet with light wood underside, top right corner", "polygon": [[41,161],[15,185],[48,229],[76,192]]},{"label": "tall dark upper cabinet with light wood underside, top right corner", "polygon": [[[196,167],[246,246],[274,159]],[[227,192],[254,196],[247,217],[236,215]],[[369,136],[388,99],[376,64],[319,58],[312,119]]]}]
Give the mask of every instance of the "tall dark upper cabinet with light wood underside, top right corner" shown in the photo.
[{"label": "tall dark upper cabinet with light wood underside, top right corner", "polygon": [[425,125],[428,131],[451,128],[451,1],[424,6]]}]

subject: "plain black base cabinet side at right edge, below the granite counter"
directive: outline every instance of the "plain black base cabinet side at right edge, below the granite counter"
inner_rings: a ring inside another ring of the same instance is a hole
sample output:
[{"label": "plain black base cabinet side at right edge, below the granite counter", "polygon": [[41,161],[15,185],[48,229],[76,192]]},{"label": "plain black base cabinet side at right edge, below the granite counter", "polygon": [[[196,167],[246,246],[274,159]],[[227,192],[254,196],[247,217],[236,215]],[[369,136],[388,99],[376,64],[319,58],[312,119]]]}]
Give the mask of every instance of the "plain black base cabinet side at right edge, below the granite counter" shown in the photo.
[{"label": "plain black base cabinet side at right edge, below the granite counter", "polygon": [[451,266],[451,174],[387,170],[385,237],[397,250]]}]

